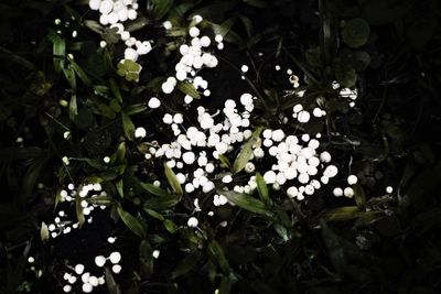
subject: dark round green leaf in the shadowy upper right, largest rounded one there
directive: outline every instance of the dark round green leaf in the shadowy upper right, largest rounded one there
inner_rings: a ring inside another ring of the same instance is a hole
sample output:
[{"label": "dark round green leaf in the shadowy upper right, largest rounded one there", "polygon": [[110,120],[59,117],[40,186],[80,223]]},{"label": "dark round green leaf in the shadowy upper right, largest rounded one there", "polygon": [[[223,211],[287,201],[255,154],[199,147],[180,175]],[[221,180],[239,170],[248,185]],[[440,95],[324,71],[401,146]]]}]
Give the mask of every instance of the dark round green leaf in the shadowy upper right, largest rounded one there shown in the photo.
[{"label": "dark round green leaf in the shadowy upper right, largest rounded one there", "polygon": [[366,44],[370,28],[364,19],[352,19],[346,22],[342,31],[342,39],[349,47],[356,48]]}]

